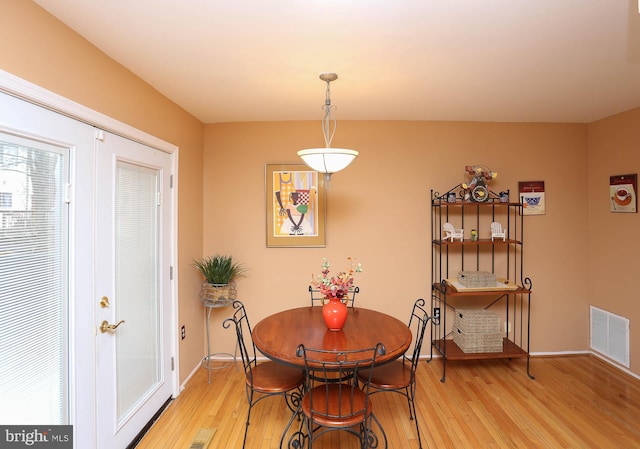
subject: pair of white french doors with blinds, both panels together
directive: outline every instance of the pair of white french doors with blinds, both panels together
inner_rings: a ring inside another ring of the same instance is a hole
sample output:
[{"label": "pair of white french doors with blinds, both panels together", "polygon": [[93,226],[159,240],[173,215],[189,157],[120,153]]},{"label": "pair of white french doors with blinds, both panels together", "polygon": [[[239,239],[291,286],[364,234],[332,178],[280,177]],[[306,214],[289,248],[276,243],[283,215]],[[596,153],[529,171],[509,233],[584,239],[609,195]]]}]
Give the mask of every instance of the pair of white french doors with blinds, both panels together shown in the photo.
[{"label": "pair of white french doors with blinds, both panels together", "polygon": [[173,156],[2,92],[0,145],[0,417],[124,448],[178,392]]}]

